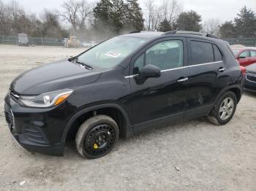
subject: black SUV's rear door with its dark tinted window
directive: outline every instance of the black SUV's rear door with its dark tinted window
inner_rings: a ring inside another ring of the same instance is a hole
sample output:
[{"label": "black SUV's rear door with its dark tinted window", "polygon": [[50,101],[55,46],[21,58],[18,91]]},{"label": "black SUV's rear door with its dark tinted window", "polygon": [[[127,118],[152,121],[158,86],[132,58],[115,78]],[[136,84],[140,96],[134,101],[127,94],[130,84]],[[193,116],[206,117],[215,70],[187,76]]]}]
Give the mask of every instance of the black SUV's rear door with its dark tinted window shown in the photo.
[{"label": "black SUV's rear door with its dark tinted window", "polygon": [[227,85],[225,63],[217,44],[202,39],[187,39],[189,84],[186,117],[207,114],[219,90]]}]

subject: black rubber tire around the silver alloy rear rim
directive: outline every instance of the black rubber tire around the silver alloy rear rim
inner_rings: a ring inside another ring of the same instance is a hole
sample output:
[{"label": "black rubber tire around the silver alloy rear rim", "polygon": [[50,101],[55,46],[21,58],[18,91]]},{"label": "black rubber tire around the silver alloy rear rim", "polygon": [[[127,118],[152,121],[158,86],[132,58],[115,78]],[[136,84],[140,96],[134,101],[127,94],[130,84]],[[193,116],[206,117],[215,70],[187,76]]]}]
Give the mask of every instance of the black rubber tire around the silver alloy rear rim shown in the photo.
[{"label": "black rubber tire around the silver alloy rear rim", "polygon": [[[223,102],[229,99],[230,101],[231,100],[233,101],[233,110],[232,112],[230,112],[229,116],[225,116],[227,117],[227,119],[223,119],[225,117],[221,117],[222,116],[221,107],[223,108]],[[214,106],[214,109],[211,111],[210,115],[208,116],[208,120],[214,123],[215,125],[225,125],[227,122],[229,122],[232,119],[233,115],[235,114],[236,105],[237,105],[236,94],[231,91],[227,91],[217,101],[217,104]]]}]

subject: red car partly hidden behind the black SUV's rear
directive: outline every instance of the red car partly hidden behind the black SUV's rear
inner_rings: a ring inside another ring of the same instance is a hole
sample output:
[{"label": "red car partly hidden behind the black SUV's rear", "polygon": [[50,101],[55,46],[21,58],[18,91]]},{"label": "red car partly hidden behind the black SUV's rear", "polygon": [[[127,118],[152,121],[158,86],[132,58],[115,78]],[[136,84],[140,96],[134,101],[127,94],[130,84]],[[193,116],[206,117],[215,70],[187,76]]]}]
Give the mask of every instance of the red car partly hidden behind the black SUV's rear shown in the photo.
[{"label": "red car partly hidden behind the black SUV's rear", "polygon": [[241,66],[256,63],[256,47],[233,48],[232,50]]}]

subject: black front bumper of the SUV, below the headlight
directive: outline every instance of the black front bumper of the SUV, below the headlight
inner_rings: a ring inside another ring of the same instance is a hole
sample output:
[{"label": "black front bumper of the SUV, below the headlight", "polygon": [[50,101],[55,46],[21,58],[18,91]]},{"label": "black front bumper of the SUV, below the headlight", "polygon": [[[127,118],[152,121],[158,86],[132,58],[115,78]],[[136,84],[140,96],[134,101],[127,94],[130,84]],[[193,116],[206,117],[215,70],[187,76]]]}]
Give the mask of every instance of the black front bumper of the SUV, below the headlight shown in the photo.
[{"label": "black front bumper of the SUV, below the headlight", "polygon": [[27,108],[20,106],[10,94],[4,101],[6,121],[20,146],[30,152],[56,156],[64,154],[61,138],[72,114],[67,103],[48,109]]}]

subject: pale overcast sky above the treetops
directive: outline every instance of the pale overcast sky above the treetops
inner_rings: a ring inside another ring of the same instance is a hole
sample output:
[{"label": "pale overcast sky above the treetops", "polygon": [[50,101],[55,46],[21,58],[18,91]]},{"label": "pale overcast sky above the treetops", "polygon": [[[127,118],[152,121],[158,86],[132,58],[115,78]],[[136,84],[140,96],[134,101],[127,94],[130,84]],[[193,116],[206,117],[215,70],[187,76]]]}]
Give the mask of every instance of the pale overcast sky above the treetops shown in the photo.
[{"label": "pale overcast sky above the treetops", "polygon": [[[10,0],[2,0],[8,2]],[[64,0],[18,0],[23,7],[29,12],[42,12],[42,9],[60,9]],[[89,0],[94,1],[94,0]],[[143,7],[143,2],[146,0],[139,0]],[[157,3],[161,0],[155,0]],[[183,4],[183,10],[188,11],[190,9],[199,13],[203,20],[209,18],[219,18],[221,22],[225,20],[233,20],[236,17],[239,9],[246,5],[256,12],[256,0],[178,0]]]}]

